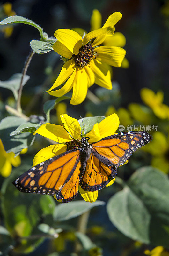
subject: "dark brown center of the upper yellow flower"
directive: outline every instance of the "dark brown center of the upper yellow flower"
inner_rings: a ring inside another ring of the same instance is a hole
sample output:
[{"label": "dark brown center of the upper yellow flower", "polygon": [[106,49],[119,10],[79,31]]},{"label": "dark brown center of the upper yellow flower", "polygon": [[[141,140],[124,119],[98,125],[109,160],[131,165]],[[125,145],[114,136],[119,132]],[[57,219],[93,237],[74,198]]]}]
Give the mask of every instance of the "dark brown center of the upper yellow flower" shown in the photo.
[{"label": "dark brown center of the upper yellow flower", "polygon": [[94,48],[91,44],[85,44],[79,49],[79,53],[77,55],[73,54],[73,58],[75,60],[76,66],[83,68],[90,64],[90,61],[94,57],[98,56],[97,52],[94,52]]}]

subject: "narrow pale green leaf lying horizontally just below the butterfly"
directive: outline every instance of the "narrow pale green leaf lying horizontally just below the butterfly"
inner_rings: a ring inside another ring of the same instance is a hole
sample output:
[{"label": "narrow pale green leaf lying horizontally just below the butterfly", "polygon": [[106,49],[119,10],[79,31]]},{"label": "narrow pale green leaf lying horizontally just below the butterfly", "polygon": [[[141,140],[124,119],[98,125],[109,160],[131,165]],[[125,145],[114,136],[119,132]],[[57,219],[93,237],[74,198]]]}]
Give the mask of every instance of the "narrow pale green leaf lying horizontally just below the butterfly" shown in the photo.
[{"label": "narrow pale green leaf lying horizontally just below the butterfly", "polygon": [[53,217],[57,221],[69,220],[83,214],[84,212],[87,212],[94,206],[104,204],[105,202],[99,200],[94,203],[78,200],[66,204],[59,204],[55,207]]}]

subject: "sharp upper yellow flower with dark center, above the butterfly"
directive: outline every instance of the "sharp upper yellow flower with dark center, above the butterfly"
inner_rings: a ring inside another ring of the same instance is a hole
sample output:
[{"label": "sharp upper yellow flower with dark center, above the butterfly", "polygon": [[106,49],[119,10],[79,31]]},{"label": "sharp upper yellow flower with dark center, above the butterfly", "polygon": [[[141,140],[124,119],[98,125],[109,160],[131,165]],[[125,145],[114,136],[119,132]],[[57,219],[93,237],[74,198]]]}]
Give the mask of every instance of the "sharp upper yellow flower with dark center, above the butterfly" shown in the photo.
[{"label": "sharp upper yellow flower with dark center, above the butterfly", "polygon": [[[50,95],[61,97],[73,89],[70,103],[82,103],[87,90],[94,83],[112,89],[111,70],[109,65],[120,67],[126,51],[117,46],[99,46],[106,36],[114,34],[114,25],[122,14],[115,12],[109,16],[102,28],[93,30],[82,37],[70,29],[55,31],[57,41],[53,50],[59,53],[66,62],[53,86],[47,91]],[[65,83],[62,88],[55,90]]]}]

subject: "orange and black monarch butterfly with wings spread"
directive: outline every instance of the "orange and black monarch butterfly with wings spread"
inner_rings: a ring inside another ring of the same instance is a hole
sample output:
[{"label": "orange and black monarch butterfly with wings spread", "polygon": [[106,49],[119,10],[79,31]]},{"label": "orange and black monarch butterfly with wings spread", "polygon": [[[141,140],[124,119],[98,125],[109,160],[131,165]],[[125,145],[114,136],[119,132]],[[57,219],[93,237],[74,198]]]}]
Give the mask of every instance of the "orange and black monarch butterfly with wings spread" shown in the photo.
[{"label": "orange and black monarch butterfly with wings spread", "polygon": [[19,176],[15,187],[27,193],[56,195],[72,201],[80,185],[85,191],[105,187],[116,176],[117,167],[147,144],[147,132],[122,132],[89,144],[89,138],[76,141],[78,148],[54,156]]}]

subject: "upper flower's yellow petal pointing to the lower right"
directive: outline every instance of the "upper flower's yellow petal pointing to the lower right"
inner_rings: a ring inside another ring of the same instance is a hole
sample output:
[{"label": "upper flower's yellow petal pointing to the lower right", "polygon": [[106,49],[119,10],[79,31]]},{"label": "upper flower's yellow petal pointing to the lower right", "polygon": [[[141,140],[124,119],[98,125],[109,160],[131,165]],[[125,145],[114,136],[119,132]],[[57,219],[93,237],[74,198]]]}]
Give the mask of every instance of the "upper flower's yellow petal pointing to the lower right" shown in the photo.
[{"label": "upper flower's yellow petal pointing to the lower right", "polygon": [[[102,64],[104,66],[104,64]],[[90,68],[92,72],[94,73],[95,76],[95,83],[98,84],[101,87],[107,88],[109,90],[112,89],[112,82],[110,79],[110,74],[108,73],[107,76],[97,67],[98,66],[98,61],[97,60],[92,60],[90,62]],[[108,70],[107,70],[108,72]]]}]

